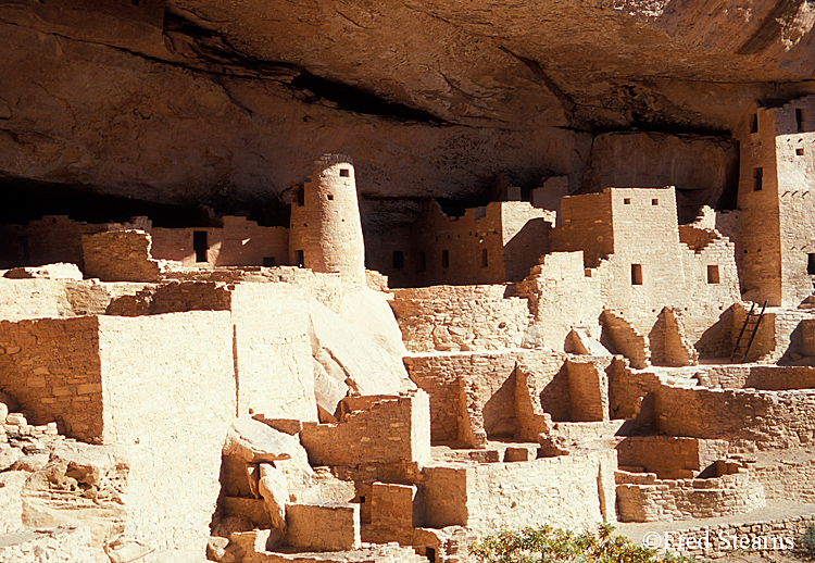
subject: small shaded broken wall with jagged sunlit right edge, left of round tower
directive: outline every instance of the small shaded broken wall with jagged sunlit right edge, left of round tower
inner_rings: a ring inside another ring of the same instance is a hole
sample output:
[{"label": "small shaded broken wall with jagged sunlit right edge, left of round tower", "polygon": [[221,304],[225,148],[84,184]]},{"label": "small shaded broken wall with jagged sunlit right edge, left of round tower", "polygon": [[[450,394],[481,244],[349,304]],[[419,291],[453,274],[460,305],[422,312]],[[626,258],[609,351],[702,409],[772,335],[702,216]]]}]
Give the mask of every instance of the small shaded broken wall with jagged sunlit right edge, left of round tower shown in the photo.
[{"label": "small shaded broken wall with jagged sunlit right edge, left of round tower", "polygon": [[85,275],[102,282],[155,282],[161,274],[142,230],[113,230],[82,238]]}]

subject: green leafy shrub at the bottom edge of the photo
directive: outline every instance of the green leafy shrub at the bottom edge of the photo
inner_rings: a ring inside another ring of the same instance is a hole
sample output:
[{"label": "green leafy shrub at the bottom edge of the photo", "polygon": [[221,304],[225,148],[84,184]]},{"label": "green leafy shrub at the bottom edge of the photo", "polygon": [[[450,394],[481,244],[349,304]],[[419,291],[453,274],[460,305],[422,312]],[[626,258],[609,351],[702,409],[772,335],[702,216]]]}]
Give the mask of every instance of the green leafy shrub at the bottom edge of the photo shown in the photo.
[{"label": "green leafy shrub at the bottom edge of the photo", "polygon": [[[656,550],[614,536],[601,524],[597,533],[575,534],[550,526],[501,529],[469,547],[479,563],[685,563],[692,559],[657,554]],[[815,536],[814,536],[815,538]]]}]

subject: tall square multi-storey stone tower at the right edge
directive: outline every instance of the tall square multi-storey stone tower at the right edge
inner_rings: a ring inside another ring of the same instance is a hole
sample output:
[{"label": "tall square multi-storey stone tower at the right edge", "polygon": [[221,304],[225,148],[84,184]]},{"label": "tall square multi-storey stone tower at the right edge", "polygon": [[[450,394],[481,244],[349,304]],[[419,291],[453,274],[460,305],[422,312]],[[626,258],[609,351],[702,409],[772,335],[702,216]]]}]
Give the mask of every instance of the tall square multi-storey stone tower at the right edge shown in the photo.
[{"label": "tall square multi-storey stone tower at the right edge", "polygon": [[815,275],[815,96],[756,105],[735,132],[744,296],[798,305]]}]

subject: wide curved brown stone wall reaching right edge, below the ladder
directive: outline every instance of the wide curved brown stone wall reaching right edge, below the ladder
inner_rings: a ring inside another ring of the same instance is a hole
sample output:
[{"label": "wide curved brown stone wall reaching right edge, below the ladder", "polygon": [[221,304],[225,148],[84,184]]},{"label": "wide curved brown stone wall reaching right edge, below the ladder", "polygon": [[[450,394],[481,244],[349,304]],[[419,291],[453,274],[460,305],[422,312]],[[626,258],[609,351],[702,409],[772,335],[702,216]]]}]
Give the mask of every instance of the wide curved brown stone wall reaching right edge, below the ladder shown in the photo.
[{"label": "wide curved brown stone wall reaching right edge, below the ladder", "polygon": [[656,391],[657,429],[670,436],[729,440],[740,449],[777,450],[815,439],[815,390],[685,389]]}]

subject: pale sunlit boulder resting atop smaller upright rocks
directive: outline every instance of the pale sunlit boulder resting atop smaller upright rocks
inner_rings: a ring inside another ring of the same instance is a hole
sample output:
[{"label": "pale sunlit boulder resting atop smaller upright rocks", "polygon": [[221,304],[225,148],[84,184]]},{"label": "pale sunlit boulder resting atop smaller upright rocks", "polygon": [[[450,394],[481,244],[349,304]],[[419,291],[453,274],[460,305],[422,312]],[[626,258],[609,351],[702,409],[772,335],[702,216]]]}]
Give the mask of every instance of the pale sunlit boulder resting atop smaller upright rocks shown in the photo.
[{"label": "pale sunlit boulder resting atop smaller upright rocks", "polygon": [[241,416],[233,423],[224,443],[224,455],[235,455],[247,463],[289,460],[300,442],[288,434],[262,422]]}]

